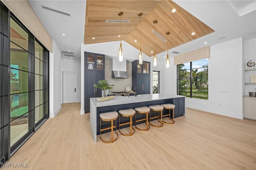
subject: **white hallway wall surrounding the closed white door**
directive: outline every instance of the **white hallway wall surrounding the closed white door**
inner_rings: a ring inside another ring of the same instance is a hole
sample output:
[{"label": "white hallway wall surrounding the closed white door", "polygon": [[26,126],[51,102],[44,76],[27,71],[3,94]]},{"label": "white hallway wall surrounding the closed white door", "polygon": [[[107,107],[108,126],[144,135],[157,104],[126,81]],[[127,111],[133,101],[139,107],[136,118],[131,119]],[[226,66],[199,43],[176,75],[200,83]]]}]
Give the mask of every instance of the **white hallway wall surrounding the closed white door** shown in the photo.
[{"label": "white hallway wall surrounding the closed white door", "polygon": [[[81,102],[81,61],[77,59],[61,59],[61,72],[63,71],[77,72],[76,102]],[[62,78],[61,78],[61,81],[62,81]],[[62,88],[61,88],[61,92],[62,92]],[[61,93],[61,103],[62,103],[62,93]]]}]

